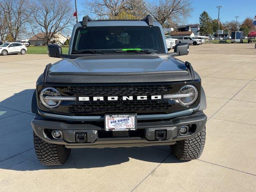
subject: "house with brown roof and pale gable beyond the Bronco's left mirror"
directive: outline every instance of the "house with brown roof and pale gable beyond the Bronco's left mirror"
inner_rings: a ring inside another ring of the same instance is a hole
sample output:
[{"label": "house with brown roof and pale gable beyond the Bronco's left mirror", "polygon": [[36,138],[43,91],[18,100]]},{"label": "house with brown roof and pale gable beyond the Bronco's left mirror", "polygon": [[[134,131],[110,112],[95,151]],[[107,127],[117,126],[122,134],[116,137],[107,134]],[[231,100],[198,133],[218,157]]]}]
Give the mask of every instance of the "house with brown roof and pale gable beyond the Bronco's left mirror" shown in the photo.
[{"label": "house with brown roof and pale gable beyond the Bronco's left mirror", "polygon": [[[56,43],[59,45],[64,45],[64,42],[69,39],[69,37],[64,36],[60,32],[56,33],[50,40],[50,44]],[[45,45],[46,40],[44,39],[43,33],[38,33],[34,35],[32,38],[29,39],[30,45],[36,46],[36,45]]]}]

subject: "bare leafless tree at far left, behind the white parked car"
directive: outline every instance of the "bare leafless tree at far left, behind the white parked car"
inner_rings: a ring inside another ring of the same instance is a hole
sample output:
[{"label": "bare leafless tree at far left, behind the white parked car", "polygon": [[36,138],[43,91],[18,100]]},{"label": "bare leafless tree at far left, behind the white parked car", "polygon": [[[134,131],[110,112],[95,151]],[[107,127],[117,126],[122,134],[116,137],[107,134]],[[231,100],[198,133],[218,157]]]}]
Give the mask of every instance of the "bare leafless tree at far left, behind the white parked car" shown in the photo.
[{"label": "bare leafless tree at far left, behind the white parked car", "polygon": [[28,5],[28,0],[0,1],[0,11],[8,28],[8,35],[12,41],[16,41],[22,30],[24,30],[24,24],[28,22],[31,14],[28,10]]}]

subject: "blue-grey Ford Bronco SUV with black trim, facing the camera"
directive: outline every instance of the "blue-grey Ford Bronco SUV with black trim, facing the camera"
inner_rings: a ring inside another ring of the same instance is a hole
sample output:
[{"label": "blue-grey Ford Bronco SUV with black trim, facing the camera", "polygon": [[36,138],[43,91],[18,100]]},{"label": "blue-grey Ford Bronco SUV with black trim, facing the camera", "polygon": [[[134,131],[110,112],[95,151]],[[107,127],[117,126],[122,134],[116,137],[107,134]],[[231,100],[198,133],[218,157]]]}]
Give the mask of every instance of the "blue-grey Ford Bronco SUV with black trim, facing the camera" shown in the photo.
[{"label": "blue-grey Ford Bronco SUV with black trim, facing the camera", "polygon": [[32,98],[34,147],[44,165],[66,162],[72,148],[170,145],[180,160],[200,157],[206,97],[189,45],[168,53],[162,26],[142,20],[92,20],[74,26],[68,54],[48,46]]}]

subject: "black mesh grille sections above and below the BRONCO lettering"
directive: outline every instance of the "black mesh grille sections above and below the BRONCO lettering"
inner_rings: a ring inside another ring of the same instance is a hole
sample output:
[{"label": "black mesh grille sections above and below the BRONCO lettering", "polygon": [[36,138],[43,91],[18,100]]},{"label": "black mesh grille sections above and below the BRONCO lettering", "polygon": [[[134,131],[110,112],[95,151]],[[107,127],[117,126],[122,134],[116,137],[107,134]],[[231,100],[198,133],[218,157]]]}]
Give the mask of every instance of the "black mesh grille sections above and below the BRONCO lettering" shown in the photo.
[{"label": "black mesh grille sections above and below the BRONCO lettering", "polygon": [[[67,89],[72,96],[152,96],[168,94],[170,85],[125,85],[125,86],[77,86]],[[172,105],[166,100],[122,100],[77,102],[69,109],[74,114],[106,113],[106,112],[149,112],[167,110]]]}]

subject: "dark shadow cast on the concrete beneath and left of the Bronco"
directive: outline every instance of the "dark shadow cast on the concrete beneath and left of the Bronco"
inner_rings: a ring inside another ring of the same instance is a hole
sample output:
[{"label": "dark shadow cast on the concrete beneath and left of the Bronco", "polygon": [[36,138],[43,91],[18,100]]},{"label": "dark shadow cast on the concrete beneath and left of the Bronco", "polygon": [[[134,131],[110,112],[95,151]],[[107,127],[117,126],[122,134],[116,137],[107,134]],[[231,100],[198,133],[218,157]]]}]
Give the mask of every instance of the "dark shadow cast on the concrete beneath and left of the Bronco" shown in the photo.
[{"label": "dark shadow cast on the concrete beneath and left of the Bronco", "polygon": [[[0,107],[8,109],[26,106],[30,108],[33,89],[26,89],[0,102]],[[19,108],[18,108],[19,109]],[[2,108],[0,108],[1,114]],[[17,109],[16,109],[17,110]],[[26,111],[26,110],[23,110]],[[32,171],[48,169],[84,169],[100,168],[122,164],[129,161],[154,163],[182,163],[171,153],[170,146],[132,147],[132,148],[82,148],[72,149],[69,159],[61,166],[43,166],[38,161],[33,145],[33,132],[30,125],[34,118],[31,112],[18,113],[1,118],[0,134],[0,169]],[[10,123],[12,121],[12,123]],[[19,126],[16,126],[20,123]],[[13,134],[10,134],[13,133]],[[15,139],[13,137],[15,136]],[[11,141],[11,142],[10,142]],[[10,143],[8,143],[10,142]],[[2,154],[2,155],[1,155]],[[1,158],[4,156],[4,158]]]}]

